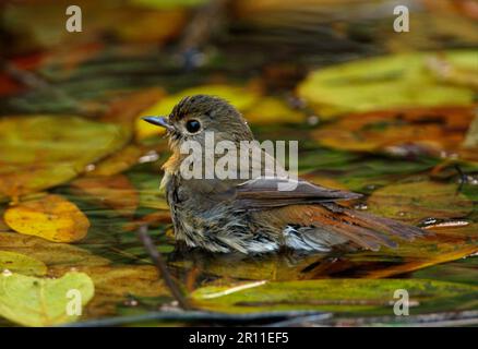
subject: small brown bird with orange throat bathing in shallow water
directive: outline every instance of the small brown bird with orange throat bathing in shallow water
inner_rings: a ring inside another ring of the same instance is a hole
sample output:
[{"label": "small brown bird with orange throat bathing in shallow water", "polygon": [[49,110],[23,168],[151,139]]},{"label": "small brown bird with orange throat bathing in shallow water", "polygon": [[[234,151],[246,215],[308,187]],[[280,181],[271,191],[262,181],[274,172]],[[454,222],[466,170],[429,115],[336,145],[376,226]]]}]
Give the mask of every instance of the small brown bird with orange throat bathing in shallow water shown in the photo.
[{"label": "small brown bird with orange throat bathing in shallow water", "polygon": [[[144,120],[167,130],[172,156],[163,166],[162,185],[166,189],[175,237],[188,246],[246,254],[280,249],[375,251],[381,245],[395,245],[390,234],[413,240],[425,233],[417,227],[337,203],[357,198],[359,194],[300,179],[294,190],[279,191],[277,188],[284,178],[264,176],[264,170],[260,177],[248,180],[240,179],[243,177],[239,174],[219,178],[216,173],[212,178],[184,178],[181,164],[189,154],[181,147],[188,141],[196,142],[203,151],[207,132],[214,132],[216,144],[229,141],[238,148],[241,142],[253,141],[247,121],[226,100],[207,95],[186,97],[168,118],[145,117]],[[267,153],[260,152],[261,164],[265,164],[267,157],[271,159]],[[218,155],[213,157],[219,158]],[[211,167],[201,166],[203,170]],[[229,165],[229,173],[239,173],[241,166]]]}]

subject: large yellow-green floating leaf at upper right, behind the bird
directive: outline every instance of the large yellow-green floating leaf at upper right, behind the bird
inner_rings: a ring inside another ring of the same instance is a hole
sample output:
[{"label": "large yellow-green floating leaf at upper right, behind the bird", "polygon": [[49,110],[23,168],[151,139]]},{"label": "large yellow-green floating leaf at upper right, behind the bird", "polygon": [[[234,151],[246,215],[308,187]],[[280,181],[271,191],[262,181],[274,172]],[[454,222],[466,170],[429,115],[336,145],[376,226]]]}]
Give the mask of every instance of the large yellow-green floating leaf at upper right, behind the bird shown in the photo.
[{"label": "large yellow-green floating leaf at upper right, behind the bird", "polygon": [[[476,69],[473,50],[434,53],[461,69]],[[446,85],[427,69],[433,53],[371,58],[313,71],[298,94],[322,117],[396,107],[468,106],[475,93]]]}]

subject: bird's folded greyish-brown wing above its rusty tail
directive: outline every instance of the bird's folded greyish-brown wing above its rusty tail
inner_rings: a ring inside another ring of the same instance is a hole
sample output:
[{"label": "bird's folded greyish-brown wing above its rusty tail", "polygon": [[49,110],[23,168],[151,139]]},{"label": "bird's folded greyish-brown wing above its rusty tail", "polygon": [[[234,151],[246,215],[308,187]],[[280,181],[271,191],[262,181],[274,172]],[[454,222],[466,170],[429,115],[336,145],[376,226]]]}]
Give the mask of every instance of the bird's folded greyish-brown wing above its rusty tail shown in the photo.
[{"label": "bird's folded greyish-brown wing above its rusty tail", "polygon": [[324,188],[304,180],[258,178],[236,186],[236,204],[250,210],[296,204],[332,203],[361,195]]}]

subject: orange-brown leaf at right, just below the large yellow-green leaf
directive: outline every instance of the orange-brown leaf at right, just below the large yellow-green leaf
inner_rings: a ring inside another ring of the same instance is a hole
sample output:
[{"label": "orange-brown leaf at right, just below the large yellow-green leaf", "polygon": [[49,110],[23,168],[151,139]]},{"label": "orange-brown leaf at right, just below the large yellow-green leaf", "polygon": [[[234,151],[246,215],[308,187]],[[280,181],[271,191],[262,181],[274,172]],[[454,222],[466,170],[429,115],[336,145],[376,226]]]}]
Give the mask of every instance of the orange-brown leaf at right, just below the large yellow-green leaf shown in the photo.
[{"label": "orange-brown leaf at right, just below the large yellow-green leaf", "polygon": [[352,113],[313,132],[322,145],[405,157],[459,154],[475,107],[408,108]]}]

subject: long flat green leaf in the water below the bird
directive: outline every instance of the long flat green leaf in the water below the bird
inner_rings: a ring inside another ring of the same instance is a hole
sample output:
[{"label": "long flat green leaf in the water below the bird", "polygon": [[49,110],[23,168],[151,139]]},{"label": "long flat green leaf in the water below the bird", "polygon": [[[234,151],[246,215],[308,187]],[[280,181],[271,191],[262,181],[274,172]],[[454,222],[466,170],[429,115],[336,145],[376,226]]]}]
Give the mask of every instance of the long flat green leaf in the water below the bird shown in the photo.
[{"label": "long flat green leaf in the water below the bird", "polygon": [[[248,287],[250,286],[250,287]],[[449,301],[478,292],[478,287],[420,279],[325,279],[208,286],[191,297],[196,306],[224,312],[320,310],[367,314],[393,313],[394,292],[408,291],[410,313],[443,309]]]}]

